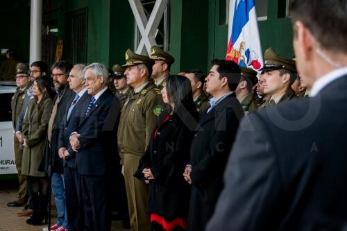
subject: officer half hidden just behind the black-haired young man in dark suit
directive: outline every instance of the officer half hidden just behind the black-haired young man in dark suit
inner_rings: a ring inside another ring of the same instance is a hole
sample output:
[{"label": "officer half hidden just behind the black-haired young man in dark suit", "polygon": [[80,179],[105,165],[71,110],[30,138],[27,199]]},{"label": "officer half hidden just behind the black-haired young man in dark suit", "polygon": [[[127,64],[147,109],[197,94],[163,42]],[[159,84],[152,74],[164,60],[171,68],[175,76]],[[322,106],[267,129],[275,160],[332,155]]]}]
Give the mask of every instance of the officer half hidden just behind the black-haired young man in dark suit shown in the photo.
[{"label": "officer half hidden just behind the black-haired young man in dark suit", "polygon": [[236,98],[242,105],[242,110],[244,110],[245,115],[248,112],[253,112],[257,110],[257,103],[253,101],[254,91],[253,88],[257,84],[257,71],[251,68],[240,67],[241,78],[239,84],[235,90]]}]

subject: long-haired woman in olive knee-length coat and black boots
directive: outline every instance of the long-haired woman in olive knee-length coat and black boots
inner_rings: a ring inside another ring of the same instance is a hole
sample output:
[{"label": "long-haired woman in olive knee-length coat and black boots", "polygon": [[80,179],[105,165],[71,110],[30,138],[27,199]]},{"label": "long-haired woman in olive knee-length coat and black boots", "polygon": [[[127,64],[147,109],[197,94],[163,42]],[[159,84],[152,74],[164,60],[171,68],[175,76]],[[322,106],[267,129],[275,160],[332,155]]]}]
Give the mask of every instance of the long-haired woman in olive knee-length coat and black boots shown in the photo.
[{"label": "long-haired woman in olive knee-length coat and black boots", "polygon": [[33,98],[29,101],[23,121],[22,134],[23,160],[22,174],[33,182],[33,216],[26,220],[31,225],[41,225],[47,217],[49,180],[40,164],[44,157],[44,145],[47,134],[52,100],[49,96],[51,86],[47,78],[38,77],[33,83]]}]

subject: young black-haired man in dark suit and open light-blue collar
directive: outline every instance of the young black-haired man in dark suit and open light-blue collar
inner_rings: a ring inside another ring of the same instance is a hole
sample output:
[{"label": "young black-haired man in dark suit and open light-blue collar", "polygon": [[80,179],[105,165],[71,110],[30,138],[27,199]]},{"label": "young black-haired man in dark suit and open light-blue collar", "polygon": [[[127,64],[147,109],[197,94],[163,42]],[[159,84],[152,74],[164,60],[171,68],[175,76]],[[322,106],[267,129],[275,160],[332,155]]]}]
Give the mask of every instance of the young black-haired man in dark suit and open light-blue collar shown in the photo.
[{"label": "young black-haired man in dark suit and open light-blue collar", "polygon": [[205,230],[223,187],[223,172],[244,112],[235,91],[241,78],[232,61],[214,60],[206,78],[206,91],[213,98],[202,115],[183,173],[192,184],[187,230]]}]

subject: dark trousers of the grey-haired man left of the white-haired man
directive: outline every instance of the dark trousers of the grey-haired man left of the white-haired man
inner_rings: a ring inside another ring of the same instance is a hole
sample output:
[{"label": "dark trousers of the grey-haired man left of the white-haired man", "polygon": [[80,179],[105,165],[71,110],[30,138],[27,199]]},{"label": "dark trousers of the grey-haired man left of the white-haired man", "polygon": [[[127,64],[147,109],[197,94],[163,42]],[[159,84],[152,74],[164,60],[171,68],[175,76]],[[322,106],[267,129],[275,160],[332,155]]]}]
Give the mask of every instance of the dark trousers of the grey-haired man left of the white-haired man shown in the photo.
[{"label": "dark trousers of the grey-haired man left of the white-haired man", "polygon": [[83,207],[80,175],[74,168],[64,167],[65,198],[69,230],[83,230]]}]

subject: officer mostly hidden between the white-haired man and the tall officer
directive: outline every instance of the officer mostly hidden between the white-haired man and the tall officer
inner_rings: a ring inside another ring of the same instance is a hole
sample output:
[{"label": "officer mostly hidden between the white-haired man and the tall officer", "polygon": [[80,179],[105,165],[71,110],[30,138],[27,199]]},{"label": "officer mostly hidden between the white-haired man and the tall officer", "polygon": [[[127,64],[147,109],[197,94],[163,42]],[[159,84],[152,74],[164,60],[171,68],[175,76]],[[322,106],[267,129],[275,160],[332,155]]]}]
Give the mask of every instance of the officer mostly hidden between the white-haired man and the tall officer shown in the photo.
[{"label": "officer mostly hidden between the white-haired man and the tall officer", "polygon": [[126,84],[126,76],[124,75],[124,68],[115,64],[112,67],[113,71],[113,84],[115,85],[116,93],[121,102],[121,107],[126,103],[126,99],[130,94],[133,94],[133,88]]}]

